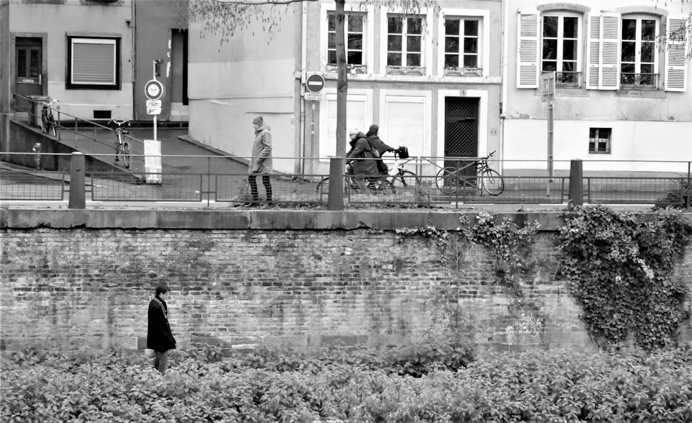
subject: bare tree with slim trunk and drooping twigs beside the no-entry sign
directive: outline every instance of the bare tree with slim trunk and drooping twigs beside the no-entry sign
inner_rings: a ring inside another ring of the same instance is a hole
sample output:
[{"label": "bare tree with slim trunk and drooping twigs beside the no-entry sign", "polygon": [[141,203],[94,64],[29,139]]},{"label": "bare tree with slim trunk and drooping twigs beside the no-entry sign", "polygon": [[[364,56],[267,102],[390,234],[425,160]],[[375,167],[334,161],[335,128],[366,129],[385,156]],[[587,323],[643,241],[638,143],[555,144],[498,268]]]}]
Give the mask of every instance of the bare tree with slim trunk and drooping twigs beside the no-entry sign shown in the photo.
[{"label": "bare tree with slim trunk and drooping twigs beside the no-entry sign", "polygon": [[[204,24],[206,30],[218,35],[221,44],[242,32],[253,21],[260,21],[265,32],[275,35],[286,8],[291,3],[317,2],[318,0],[188,0],[190,19]],[[344,36],[345,0],[336,3],[336,156],[345,156],[346,96],[348,91],[346,46]],[[433,7],[435,0],[360,0],[358,8],[368,4],[397,8],[404,15],[415,15],[421,8]],[[263,6],[271,6],[269,8]]]}]

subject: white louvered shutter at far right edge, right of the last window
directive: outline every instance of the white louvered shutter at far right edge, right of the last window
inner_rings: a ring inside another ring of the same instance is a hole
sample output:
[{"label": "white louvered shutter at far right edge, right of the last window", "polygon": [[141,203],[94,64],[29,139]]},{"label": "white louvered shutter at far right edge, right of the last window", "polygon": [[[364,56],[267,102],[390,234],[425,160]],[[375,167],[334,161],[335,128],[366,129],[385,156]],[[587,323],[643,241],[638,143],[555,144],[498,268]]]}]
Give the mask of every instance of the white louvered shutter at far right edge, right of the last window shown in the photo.
[{"label": "white louvered shutter at far right edge, right of the last window", "polygon": [[666,91],[687,89],[687,26],[684,16],[669,16],[666,21]]}]

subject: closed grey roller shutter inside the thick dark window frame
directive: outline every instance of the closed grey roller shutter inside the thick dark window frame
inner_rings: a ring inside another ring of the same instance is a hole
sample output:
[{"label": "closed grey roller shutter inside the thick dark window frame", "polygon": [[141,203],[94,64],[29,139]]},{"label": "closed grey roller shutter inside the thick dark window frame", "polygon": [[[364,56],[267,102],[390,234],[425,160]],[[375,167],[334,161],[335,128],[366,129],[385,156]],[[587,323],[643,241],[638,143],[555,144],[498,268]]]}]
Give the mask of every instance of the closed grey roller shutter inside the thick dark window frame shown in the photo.
[{"label": "closed grey roller shutter inside the thick dark window frame", "polygon": [[115,85],[115,40],[79,38],[73,39],[71,83]]}]

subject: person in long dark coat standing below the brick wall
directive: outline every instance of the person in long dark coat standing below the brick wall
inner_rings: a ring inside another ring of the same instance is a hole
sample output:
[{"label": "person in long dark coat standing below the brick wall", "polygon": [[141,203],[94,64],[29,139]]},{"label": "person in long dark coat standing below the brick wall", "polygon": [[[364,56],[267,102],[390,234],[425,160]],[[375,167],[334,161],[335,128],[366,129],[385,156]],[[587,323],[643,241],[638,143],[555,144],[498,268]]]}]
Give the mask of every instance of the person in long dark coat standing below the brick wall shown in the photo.
[{"label": "person in long dark coat standing below the brick wall", "polygon": [[175,349],[175,338],[168,323],[167,287],[156,287],[156,296],[149,302],[147,348],[154,350],[154,367],[163,375],[168,367],[168,351]]}]

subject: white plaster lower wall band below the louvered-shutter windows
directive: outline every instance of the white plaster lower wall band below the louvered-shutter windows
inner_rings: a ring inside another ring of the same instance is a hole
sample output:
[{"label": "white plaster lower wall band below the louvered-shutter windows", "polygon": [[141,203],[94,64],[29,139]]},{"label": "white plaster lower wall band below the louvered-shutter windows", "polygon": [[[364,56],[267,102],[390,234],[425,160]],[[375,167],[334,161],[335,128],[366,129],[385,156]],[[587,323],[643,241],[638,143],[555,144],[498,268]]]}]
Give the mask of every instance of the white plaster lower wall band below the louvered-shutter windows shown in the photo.
[{"label": "white plaster lower wall band below the louvered-shutter windows", "polygon": [[[546,169],[547,121],[509,119],[505,123],[504,169]],[[612,128],[611,153],[589,154],[589,128]],[[555,170],[581,159],[584,170],[687,172],[692,161],[692,123],[556,120]]]}]

